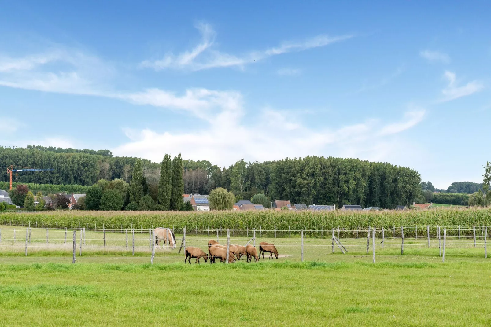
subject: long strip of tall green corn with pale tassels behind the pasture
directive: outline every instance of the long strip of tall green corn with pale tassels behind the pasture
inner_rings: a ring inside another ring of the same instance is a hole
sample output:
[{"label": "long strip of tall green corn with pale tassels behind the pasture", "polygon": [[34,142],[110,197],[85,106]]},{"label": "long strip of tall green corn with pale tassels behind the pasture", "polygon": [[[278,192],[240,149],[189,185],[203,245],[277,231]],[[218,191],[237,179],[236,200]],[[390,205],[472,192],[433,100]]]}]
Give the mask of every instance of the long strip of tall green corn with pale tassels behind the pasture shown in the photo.
[{"label": "long strip of tall green corn with pale tassels behind the pasture", "polygon": [[149,211],[53,211],[4,212],[0,224],[16,226],[44,226],[50,228],[152,228],[182,229],[233,228],[237,230],[277,230],[279,233],[307,229],[328,231],[331,228],[354,230],[358,227],[378,226],[387,229],[407,226],[420,230],[426,226],[484,226],[491,224],[490,208],[435,208],[430,210],[311,212],[311,211],[212,211],[212,212],[149,212]]}]

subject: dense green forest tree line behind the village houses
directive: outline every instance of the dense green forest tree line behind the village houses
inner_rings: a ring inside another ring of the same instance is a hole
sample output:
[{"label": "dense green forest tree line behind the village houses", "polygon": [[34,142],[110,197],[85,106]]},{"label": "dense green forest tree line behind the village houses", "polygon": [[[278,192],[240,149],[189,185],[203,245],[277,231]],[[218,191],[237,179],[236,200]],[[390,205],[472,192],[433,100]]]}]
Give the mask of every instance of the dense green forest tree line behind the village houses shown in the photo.
[{"label": "dense green forest tree line behind the village houses", "polygon": [[[292,203],[336,204],[338,207],[360,204],[364,207],[394,208],[411,204],[422,194],[421,178],[417,171],[389,163],[309,156],[263,163],[239,160],[228,167],[219,167],[209,161],[181,158],[181,177],[177,178],[179,173],[172,168],[174,160],[167,155],[162,163],[152,163],[134,157],[113,157],[107,150],[90,153],[59,148],[52,151],[39,146],[0,147],[0,168],[5,172],[10,164],[55,168],[54,172],[19,174],[19,182],[91,186],[99,184],[99,180],[120,179],[129,185],[129,190],[133,190],[129,191],[133,197],[128,197],[123,207],[132,202],[139,205],[141,197],[137,194],[143,191],[142,197],[148,195],[156,205],[175,209],[175,204],[172,207],[172,202],[167,202],[169,174],[170,183],[173,178],[180,180],[181,197],[183,193],[210,194],[216,188],[223,188],[233,192],[235,201],[249,200],[255,194],[262,193],[268,199],[263,199],[263,202],[281,199]],[[135,170],[137,162],[139,167]],[[7,178],[6,173],[2,174],[3,181],[7,181]],[[141,182],[141,188],[135,189],[135,186],[132,189],[132,182],[140,184],[136,180]],[[177,194],[176,185],[171,187],[171,194],[174,188],[174,194]],[[148,197],[145,199],[148,200]]]}]

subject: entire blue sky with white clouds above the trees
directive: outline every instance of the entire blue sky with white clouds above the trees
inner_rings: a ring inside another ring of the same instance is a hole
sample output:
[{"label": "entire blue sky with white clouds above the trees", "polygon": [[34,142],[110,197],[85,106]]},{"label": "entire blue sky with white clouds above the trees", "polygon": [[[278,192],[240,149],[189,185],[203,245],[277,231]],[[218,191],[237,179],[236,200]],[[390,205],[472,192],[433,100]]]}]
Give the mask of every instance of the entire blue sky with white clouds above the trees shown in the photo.
[{"label": "entire blue sky with white clouds above the trees", "polygon": [[307,155],[447,188],[491,160],[485,1],[2,1],[0,144]]}]

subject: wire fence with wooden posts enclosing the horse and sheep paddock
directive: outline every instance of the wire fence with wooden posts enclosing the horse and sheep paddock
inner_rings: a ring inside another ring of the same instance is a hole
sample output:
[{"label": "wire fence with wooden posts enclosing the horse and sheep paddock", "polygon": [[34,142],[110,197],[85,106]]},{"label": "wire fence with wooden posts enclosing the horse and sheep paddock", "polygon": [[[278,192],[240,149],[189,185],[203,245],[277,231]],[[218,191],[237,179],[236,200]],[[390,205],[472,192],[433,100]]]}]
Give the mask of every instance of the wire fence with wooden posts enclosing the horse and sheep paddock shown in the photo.
[{"label": "wire fence with wooden posts enclosing the horse and sheep paddock", "polygon": [[[111,226],[112,227],[112,226]],[[71,256],[113,255],[114,257],[155,257],[167,261],[182,260],[189,246],[208,253],[208,241],[222,245],[253,245],[261,252],[261,242],[274,244],[278,258],[288,260],[329,260],[329,255],[348,256],[395,255],[483,257],[487,258],[488,226],[402,226],[388,228],[333,227],[307,229],[289,226],[288,229],[241,228],[169,228],[176,247],[156,242],[153,228],[50,228],[40,226],[0,226],[1,256]],[[272,256],[268,252],[262,258]],[[235,255],[235,254],[234,254]],[[275,257],[276,258],[276,257]],[[237,256],[237,259],[243,259]]]}]

